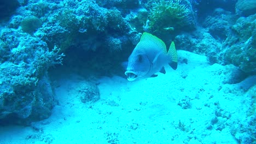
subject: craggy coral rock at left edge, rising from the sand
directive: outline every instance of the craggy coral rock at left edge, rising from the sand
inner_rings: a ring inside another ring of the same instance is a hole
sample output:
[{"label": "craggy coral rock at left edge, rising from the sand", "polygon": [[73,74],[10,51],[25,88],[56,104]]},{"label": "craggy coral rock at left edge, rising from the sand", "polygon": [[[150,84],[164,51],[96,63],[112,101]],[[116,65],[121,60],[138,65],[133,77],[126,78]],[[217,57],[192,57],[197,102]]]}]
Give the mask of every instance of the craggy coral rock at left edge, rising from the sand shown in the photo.
[{"label": "craggy coral rock at left edge, rising from the sand", "polygon": [[[0,122],[27,124],[49,117],[54,105],[47,70],[61,64],[56,47],[19,30],[0,32]],[[9,121],[8,119],[12,119]]]}]

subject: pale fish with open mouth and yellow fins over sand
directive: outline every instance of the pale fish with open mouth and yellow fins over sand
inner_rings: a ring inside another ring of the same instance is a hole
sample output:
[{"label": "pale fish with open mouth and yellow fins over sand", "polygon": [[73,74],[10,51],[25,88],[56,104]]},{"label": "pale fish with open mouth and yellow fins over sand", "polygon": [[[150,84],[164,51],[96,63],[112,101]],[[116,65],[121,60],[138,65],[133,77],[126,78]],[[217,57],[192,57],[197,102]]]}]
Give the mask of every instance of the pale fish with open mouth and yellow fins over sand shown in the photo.
[{"label": "pale fish with open mouth and yellow fins over sand", "polygon": [[177,69],[174,42],[172,41],[167,52],[164,41],[144,32],[128,59],[125,75],[129,81],[156,77],[157,72],[166,73],[164,67],[167,64],[174,70]]}]

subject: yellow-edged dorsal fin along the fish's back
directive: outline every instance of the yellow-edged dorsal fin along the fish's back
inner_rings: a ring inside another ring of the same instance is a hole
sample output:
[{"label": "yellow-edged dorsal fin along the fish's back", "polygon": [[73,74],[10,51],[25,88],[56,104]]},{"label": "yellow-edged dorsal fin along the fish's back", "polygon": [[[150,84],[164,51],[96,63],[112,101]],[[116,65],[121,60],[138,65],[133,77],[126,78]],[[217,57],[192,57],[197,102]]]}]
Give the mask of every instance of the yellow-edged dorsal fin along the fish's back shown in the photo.
[{"label": "yellow-edged dorsal fin along the fish's back", "polygon": [[165,53],[167,53],[166,45],[165,45],[164,41],[162,41],[161,39],[159,39],[158,37],[156,37],[153,34],[144,32],[141,36],[140,41],[151,41],[152,43],[155,43],[156,45],[158,45],[158,47],[160,49],[164,50]]}]

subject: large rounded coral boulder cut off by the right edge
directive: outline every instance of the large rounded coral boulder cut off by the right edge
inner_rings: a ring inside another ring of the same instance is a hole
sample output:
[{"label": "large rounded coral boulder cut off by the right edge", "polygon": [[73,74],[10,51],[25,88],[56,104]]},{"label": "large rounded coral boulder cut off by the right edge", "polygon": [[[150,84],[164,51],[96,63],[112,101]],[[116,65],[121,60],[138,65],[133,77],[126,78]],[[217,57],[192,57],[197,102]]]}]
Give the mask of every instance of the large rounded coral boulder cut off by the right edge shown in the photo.
[{"label": "large rounded coral boulder cut off by the right edge", "polygon": [[225,40],[224,60],[246,73],[256,72],[256,14],[240,17],[232,26],[232,34]]}]

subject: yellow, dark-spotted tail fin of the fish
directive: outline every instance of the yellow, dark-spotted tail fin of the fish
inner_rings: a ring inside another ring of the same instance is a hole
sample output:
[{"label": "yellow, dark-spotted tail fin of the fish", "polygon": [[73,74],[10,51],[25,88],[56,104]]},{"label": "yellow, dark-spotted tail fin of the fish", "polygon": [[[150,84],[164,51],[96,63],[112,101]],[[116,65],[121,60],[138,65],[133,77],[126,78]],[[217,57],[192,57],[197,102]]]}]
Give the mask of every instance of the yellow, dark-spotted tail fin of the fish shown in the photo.
[{"label": "yellow, dark-spotted tail fin of the fish", "polygon": [[178,66],[178,56],[177,56],[177,52],[175,49],[175,44],[172,41],[170,48],[168,50],[168,56],[171,58],[171,62],[169,62],[168,64],[172,67],[172,69],[177,69]]}]

